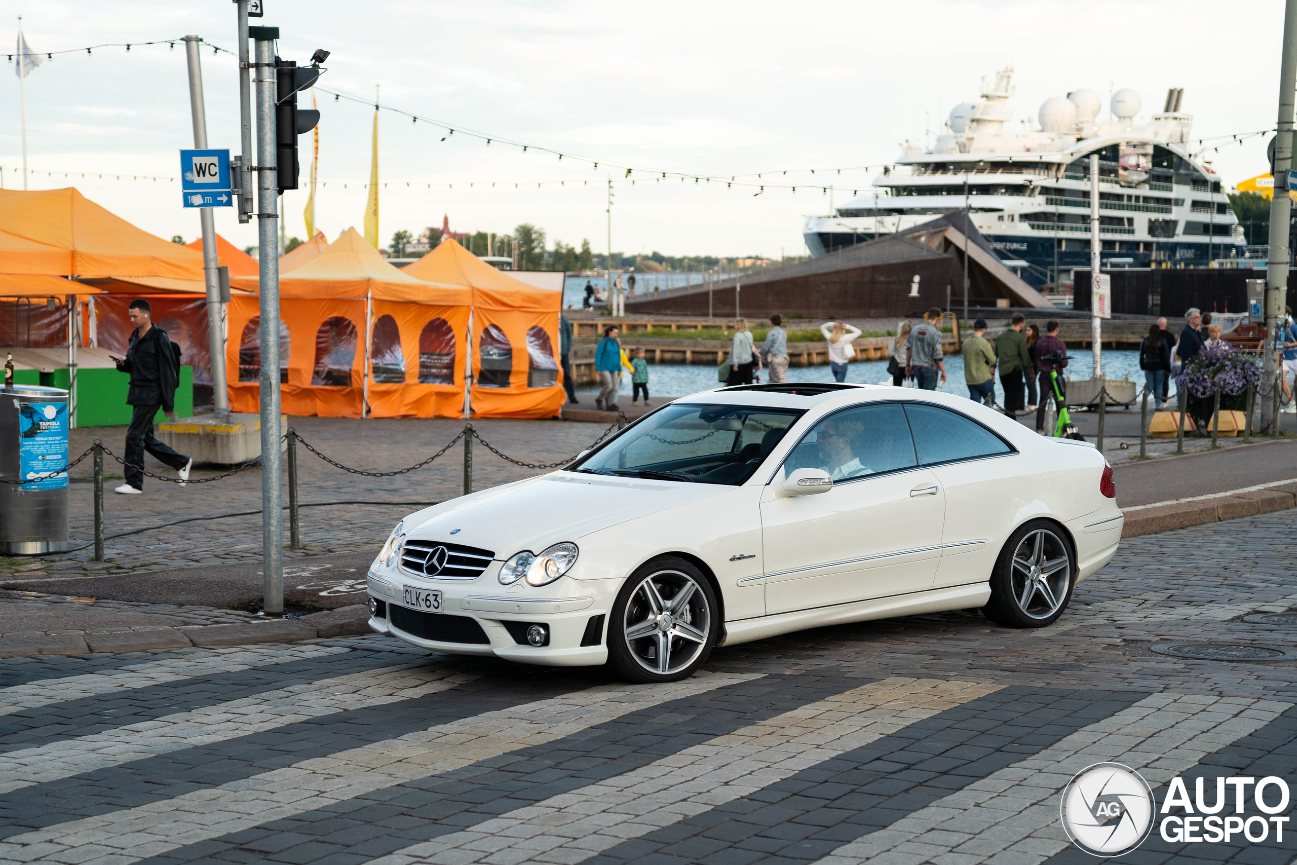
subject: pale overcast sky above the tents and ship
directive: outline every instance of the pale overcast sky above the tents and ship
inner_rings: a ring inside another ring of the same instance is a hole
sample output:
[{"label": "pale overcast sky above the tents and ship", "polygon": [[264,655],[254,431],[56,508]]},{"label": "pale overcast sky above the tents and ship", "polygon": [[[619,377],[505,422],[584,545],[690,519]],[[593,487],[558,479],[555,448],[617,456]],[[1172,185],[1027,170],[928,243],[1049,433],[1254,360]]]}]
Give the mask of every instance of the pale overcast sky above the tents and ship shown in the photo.
[{"label": "pale overcast sky above the tents and ship", "polygon": [[[385,105],[608,162],[699,175],[789,170],[778,182],[807,184],[795,195],[754,196],[724,183],[651,183],[645,170],[632,175],[643,178],[634,187],[616,188],[615,249],[722,255],[804,252],[804,218],[830,207],[822,185],[838,187],[838,204],[868,188],[875,171],[848,169],[888,162],[905,139],[939,131],[953,104],[977,99],[981,79],[1006,65],[1016,70],[1016,119],[1079,87],[1105,100],[1114,87],[1134,87],[1147,117],[1162,108],[1167,87],[1183,87],[1196,139],[1230,141],[1272,127],[1283,18],[1275,0],[265,5],[259,23],[280,27],[283,57],[303,64],[315,48],[332,52],[322,79],[331,89],[370,99],[380,84]],[[19,13],[32,51],[136,43],[130,53],[56,54],[29,75],[29,166],[57,172],[32,178],[31,188],[75,185],[148,231],[196,237],[198,217],[182,210],[178,183],[79,175],[179,174],[176,150],[193,145],[183,45],[139,43],[197,34],[232,49],[235,5],[18,0],[5,9],[5,52]],[[235,60],[209,49],[202,73],[210,145],[237,149]],[[18,78],[10,71],[3,80],[0,165],[4,185],[21,188],[13,171],[21,163]],[[316,222],[332,240],[362,227],[374,109],[318,97],[319,178],[328,187],[319,189]],[[551,243],[588,237],[595,250],[607,248],[604,166],[444,135],[380,115],[380,182],[390,184],[380,205],[384,244],[397,230],[440,227],[449,214],[457,231],[507,232],[530,222]],[[1235,184],[1266,170],[1265,141],[1222,143],[1209,158]],[[310,136],[302,144],[305,184]],[[64,179],[65,171],[75,176]],[[536,188],[550,180],[567,183]],[[428,183],[454,189],[419,188]],[[289,235],[303,235],[305,202],[305,191],[284,196]],[[217,210],[217,230],[240,246],[257,243],[256,223],[240,226],[228,210]]]}]

